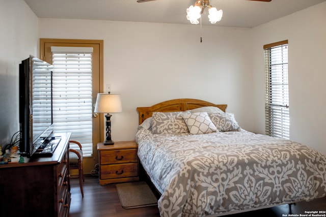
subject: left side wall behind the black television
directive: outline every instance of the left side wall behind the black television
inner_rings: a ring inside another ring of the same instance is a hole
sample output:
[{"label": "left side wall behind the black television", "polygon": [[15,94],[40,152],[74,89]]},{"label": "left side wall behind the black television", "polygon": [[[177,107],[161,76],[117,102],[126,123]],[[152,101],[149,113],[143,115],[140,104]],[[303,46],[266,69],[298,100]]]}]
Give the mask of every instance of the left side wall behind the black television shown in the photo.
[{"label": "left side wall behind the black television", "polygon": [[38,18],[22,0],[0,0],[0,144],[19,130],[18,72],[21,60],[37,54]]}]

